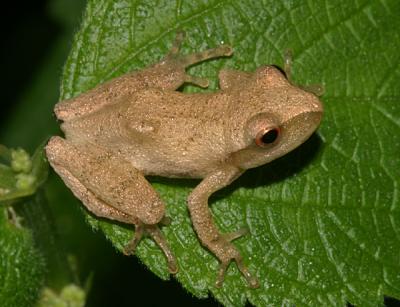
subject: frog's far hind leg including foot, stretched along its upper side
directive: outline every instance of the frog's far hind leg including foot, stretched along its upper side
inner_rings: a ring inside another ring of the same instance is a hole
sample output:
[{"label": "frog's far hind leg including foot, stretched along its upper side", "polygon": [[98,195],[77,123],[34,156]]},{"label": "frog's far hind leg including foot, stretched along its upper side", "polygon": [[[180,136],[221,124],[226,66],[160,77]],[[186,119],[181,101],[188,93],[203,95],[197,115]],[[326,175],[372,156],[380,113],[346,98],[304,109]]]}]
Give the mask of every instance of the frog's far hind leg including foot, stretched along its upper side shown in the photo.
[{"label": "frog's far hind leg including foot, stretched along its upper side", "polygon": [[184,33],[179,32],[171,51],[161,62],[122,75],[77,97],[59,102],[54,108],[57,118],[65,121],[93,113],[123,96],[133,95],[143,89],[176,90],[184,83],[207,87],[207,79],[188,75],[186,68],[208,59],[230,56],[232,49],[227,45],[220,45],[198,53],[182,55],[179,49],[183,38]]}]

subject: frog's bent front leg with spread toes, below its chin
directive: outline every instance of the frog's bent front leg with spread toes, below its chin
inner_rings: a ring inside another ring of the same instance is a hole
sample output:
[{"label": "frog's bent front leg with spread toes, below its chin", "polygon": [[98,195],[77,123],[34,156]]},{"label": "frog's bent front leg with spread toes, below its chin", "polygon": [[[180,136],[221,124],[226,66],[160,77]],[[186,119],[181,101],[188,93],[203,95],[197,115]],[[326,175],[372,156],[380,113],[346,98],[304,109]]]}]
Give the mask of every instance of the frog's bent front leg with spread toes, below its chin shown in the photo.
[{"label": "frog's bent front leg with spread toes, below its chin", "polygon": [[221,234],[214,224],[208,208],[208,198],[214,192],[229,185],[243,173],[234,166],[225,166],[209,175],[193,190],[188,198],[188,207],[193,226],[201,242],[220,260],[220,268],[216,286],[221,287],[226,270],[231,261],[235,261],[239,270],[246,278],[250,287],[257,288],[257,278],[252,276],[243,263],[243,258],[236,247],[230,242],[244,234],[243,230],[234,233]]}]

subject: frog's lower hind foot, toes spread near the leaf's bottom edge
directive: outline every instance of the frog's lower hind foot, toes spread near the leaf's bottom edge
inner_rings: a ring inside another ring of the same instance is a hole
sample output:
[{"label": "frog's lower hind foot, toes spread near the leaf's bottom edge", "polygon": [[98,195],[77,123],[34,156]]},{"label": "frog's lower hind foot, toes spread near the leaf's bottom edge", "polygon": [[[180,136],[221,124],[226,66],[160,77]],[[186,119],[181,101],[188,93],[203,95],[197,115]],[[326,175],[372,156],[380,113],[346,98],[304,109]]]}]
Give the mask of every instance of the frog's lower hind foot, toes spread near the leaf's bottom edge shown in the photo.
[{"label": "frog's lower hind foot, toes spread near the leaf's bottom edge", "polygon": [[[165,218],[165,221],[162,220],[162,222],[163,223],[168,222],[167,218]],[[178,266],[176,264],[175,256],[173,255],[172,251],[170,250],[167,240],[165,239],[164,235],[162,234],[160,228],[157,225],[147,225],[144,223],[137,224],[136,229],[135,229],[135,236],[125,246],[124,251],[123,251],[124,254],[125,255],[134,254],[136,246],[138,245],[140,240],[143,238],[143,235],[149,235],[157,243],[157,245],[164,252],[165,257],[167,258],[168,270],[170,271],[171,274],[176,274],[178,272]]]}]

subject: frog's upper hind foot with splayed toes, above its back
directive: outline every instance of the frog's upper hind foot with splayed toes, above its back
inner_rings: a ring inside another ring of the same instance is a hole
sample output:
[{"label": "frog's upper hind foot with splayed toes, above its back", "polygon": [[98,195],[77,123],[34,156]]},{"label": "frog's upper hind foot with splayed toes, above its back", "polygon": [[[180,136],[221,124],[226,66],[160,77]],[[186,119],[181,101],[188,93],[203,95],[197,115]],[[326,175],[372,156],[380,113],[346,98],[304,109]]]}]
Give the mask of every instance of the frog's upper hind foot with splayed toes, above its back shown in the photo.
[{"label": "frog's upper hind foot with splayed toes, above its back", "polygon": [[[174,63],[178,64],[179,66],[186,69],[189,66],[194,64],[214,59],[218,57],[226,57],[231,56],[233,51],[232,48],[228,45],[220,45],[216,48],[211,48],[208,50],[182,55],[180,51],[180,47],[182,42],[185,38],[185,32],[180,31],[177,33],[174,43],[172,44],[171,50],[166,57],[166,61],[173,61]],[[185,74],[183,81],[186,83],[191,83],[197,85],[202,88],[206,88],[209,85],[209,81],[205,78],[195,77],[188,74]]]}]

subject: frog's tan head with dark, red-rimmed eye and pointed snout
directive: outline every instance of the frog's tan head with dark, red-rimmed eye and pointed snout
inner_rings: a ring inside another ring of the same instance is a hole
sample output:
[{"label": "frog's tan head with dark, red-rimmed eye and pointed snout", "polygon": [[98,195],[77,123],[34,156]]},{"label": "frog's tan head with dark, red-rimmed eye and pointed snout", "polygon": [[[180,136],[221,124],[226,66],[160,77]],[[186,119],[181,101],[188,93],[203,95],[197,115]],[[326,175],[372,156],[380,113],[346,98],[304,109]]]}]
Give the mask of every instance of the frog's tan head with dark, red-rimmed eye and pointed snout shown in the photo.
[{"label": "frog's tan head with dark, red-rimmed eye and pointed snout", "polygon": [[257,89],[244,121],[241,148],[231,155],[243,169],[266,164],[304,143],[318,128],[323,108],[318,97],[291,84],[275,67],[255,74]]}]

